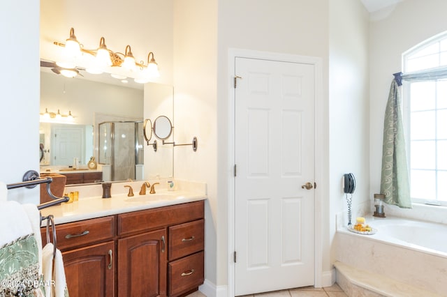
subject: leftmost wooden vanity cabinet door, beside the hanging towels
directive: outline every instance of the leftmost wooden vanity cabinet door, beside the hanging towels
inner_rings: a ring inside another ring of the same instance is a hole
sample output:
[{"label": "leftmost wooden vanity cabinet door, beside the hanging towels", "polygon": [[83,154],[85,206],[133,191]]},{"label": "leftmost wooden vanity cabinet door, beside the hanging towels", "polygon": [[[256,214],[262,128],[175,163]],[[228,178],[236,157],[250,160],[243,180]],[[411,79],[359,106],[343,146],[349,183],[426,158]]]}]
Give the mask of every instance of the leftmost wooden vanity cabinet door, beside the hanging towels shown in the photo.
[{"label": "leftmost wooden vanity cabinet door, beside the hanging towels", "polygon": [[62,253],[70,296],[115,296],[115,243]]}]

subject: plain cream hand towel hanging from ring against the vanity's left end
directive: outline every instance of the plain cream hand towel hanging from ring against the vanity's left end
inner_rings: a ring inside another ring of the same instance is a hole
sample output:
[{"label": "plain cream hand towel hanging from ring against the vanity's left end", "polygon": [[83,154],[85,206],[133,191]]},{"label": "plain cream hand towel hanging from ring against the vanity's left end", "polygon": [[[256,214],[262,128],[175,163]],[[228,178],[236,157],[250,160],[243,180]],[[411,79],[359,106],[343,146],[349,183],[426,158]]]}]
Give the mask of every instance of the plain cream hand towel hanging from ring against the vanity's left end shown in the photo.
[{"label": "plain cream hand towel hanging from ring against the vanity's left end", "polygon": [[[60,250],[56,250],[56,257],[54,259],[54,274],[53,274],[53,252],[54,245],[47,243],[42,250],[43,259],[43,280],[45,281],[45,296],[46,297],[64,297],[66,290],[66,279],[64,271],[64,261]],[[51,291],[54,289],[54,295]]]}]

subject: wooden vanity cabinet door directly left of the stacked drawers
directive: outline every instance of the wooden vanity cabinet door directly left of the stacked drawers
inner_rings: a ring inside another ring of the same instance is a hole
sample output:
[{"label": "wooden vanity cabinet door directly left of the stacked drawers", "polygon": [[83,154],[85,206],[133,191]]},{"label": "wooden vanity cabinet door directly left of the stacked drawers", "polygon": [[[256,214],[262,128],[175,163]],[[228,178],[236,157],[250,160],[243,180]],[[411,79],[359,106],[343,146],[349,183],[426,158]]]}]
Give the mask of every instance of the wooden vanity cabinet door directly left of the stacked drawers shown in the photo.
[{"label": "wooden vanity cabinet door directly left of the stacked drawers", "polygon": [[166,229],[118,240],[118,296],[166,296]]}]

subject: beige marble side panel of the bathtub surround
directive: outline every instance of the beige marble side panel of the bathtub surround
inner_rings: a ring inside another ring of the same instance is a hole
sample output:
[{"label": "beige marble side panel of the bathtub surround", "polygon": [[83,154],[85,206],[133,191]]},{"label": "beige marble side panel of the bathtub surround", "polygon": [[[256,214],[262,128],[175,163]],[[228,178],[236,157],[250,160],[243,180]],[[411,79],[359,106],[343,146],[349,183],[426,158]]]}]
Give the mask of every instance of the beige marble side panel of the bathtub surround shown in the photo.
[{"label": "beige marble side panel of the bathtub surround", "polygon": [[[374,227],[374,221],[367,219],[367,223]],[[377,236],[380,231],[379,229]],[[388,243],[374,236],[354,234],[346,227],[338,227],[334,241],[337,261],[368,273],[388,277],[396,282],[445,296],[447,292],[446,256]]]}]

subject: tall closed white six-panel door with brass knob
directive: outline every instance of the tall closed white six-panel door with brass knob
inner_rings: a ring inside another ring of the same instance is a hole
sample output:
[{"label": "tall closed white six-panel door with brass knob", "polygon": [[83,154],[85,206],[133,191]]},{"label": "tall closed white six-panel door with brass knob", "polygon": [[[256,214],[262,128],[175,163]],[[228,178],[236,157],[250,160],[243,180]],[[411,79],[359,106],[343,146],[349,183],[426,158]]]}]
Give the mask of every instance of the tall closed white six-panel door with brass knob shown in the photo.
[{"label": "tall closed white six-panel door with brass knob", "polygon": [[314,284],[314,66],[235,59],[235,295]]}]

